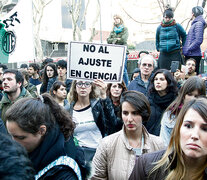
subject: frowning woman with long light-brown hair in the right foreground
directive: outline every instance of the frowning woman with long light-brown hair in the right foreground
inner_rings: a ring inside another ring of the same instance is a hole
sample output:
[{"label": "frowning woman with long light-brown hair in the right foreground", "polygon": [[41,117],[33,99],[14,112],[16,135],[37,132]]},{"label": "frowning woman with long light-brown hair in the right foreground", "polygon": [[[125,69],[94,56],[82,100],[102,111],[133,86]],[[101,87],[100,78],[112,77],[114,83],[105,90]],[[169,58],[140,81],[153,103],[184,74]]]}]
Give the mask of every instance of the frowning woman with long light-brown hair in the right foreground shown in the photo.
[{"label": "frowning woman with long light-brown hair in the right foreground", "polygon": [[167,150],[139,157],[129,180],[207,179],[206,112],[206,98],[185,103]]}]

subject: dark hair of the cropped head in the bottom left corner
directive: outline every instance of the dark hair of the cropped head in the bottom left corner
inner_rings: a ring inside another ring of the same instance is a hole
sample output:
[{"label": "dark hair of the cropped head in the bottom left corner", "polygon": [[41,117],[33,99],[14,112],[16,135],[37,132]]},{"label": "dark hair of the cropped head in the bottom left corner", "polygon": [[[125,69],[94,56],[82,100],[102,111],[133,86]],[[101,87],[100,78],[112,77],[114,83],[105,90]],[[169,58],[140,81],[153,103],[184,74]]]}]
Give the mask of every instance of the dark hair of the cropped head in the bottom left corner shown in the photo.
[{"label": "dark hair of the cropped head in the bottom left corner", "polygon": [[0,133],[0,179],[32,180],[35,171],[25,149],[10,136]]}]

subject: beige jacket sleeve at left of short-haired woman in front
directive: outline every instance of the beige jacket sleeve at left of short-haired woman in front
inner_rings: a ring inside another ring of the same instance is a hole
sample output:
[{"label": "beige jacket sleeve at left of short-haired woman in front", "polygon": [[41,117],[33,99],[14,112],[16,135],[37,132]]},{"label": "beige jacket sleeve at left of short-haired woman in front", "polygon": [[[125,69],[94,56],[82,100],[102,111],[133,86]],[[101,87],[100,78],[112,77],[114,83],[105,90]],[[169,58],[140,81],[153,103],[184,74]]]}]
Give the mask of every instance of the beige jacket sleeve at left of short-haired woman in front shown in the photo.
[{"label": "beige jacket sleeve at left of short-haired woman in front", "polygon": [[107,163],[106,143],[102,140],[99,147],[96,149],[96,153],[92,161],[93,174],[91,180],[108,179]]}]

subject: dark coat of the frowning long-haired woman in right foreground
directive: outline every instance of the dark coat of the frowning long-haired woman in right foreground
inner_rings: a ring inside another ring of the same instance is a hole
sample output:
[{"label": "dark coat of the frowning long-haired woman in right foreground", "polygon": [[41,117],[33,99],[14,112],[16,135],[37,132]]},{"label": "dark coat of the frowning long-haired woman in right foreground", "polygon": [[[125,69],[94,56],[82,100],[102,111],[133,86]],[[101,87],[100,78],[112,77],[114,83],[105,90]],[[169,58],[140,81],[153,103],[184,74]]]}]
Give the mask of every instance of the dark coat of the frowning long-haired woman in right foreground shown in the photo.
[{"label": "dark coat of the frowning long-haired woman in right foreground", "polygon": [[[159,168],[153,172],[150,176],[150,171],[155,167],[157,161],[159,161],[164,155],[165,151],[157,151],[149,154],[144,154],[136,159],[136,163],[133,172],[129,180],[165,180],[168,172],[165,167]],[[172,155],[169,154],[169,161],[172,161]],[[173,170],[176,167],[176,159],[171,163],[170,169]],[[175,177],[176,179],[176,177]],[[207,180],[207,168],[204,171],[204,180]]]}]

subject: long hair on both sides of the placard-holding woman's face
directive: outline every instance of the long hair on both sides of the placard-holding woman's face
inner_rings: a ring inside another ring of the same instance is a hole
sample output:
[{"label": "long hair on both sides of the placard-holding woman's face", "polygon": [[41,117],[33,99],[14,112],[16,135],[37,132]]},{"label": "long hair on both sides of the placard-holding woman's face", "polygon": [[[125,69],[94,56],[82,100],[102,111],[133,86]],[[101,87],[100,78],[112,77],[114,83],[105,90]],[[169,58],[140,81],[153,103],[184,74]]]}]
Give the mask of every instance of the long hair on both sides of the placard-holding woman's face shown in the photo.
[{"label": "long hair on both sides of the placard-holding woman's face", "polygon": [[[68,99],[69,103],[78,101],[78,93],[76,91],[76,83],[77,83],[77,80],[74,80],[72,82],[70,92],[68,93],[67,99]],[[96,89],[96,87],[95,87],[94,83],[92,83],[91,92],[89,94],[89,99],[96,99],[99,97],[98,93],[95,89]]]}]

